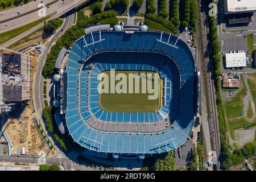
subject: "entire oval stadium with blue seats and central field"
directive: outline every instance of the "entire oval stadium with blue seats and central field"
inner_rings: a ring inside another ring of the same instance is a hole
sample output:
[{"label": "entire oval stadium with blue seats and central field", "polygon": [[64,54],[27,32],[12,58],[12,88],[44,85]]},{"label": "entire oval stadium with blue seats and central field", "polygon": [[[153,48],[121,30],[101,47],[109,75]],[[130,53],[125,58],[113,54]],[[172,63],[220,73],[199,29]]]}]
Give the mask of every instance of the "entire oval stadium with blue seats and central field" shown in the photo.
[{"label": "entire oval stadium with blue seats and central field", "polygon": [[[197,72],[180,36],[147,26],[90,27],[67,55],[61,78],[56,78],[57,106],[65,130],[86,154],[144,159],[187,140],[196,114]],[[142,93],[142,83],[135,93],[99,93],[102,74],[111,82],[113,70],[122,76],[137,73],[141,80],[158,75],[151,84],[159,97],[149,100],[152,93]]]}]

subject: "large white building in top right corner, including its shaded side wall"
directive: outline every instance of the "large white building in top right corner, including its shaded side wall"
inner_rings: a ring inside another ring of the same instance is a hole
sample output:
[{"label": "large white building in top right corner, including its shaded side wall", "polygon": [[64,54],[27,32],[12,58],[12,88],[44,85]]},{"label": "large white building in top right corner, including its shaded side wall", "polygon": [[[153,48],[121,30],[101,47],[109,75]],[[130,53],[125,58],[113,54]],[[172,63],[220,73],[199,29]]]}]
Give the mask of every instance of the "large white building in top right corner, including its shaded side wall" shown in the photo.
[{"label": "large white building in top right corner, including its shaded side wall", "polygon": [[225,15],[243,14],[256,11],[255,0],[224,0]]}]

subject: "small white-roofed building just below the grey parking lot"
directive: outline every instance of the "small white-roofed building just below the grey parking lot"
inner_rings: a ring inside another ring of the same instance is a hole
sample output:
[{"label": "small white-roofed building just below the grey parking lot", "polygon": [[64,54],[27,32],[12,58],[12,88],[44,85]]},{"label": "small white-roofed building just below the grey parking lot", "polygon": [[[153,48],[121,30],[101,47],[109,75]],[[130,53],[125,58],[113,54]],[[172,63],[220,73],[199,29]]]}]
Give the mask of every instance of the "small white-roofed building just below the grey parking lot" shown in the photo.
[{"label": "small white-roofed building just below the grey parking lot", "polygon": [[226,53],[226,68],[246,67],[246,53]]}]

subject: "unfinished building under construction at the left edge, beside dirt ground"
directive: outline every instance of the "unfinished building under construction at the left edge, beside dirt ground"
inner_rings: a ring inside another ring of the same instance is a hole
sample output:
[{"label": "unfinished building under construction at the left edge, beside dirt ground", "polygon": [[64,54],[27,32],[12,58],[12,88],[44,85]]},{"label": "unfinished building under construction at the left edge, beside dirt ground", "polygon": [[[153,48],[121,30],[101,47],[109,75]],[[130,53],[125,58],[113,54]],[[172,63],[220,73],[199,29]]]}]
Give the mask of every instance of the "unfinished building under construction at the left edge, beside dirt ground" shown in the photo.
[{"label": "unfinished building under construction at the left edge, beside dirt ground", "polygon": [[3,103],[30,99],[30,57],[1,53],[1,100]]}]

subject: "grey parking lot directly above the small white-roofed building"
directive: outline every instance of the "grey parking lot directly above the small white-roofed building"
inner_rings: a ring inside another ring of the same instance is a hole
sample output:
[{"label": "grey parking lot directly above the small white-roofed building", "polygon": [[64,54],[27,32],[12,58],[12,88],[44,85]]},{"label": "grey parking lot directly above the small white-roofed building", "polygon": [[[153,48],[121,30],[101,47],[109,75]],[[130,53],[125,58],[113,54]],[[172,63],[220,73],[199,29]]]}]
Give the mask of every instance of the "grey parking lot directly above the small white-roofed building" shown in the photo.
[{"label": "grey parking lot directly above the small white-roofed building", "polygon": [[244,35],[226,35],[223,36],[222,42],[222,49],[225,53],[237,50],[248,51],[247,38]]}]

